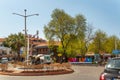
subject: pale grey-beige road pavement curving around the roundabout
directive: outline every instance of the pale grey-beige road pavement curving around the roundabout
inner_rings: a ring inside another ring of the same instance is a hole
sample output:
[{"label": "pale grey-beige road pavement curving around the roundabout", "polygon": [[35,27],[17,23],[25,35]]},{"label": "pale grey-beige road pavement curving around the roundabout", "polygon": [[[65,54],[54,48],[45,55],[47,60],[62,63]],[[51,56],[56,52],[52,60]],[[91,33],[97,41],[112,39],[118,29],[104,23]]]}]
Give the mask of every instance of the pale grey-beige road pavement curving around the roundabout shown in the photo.
[{"label": "pale grey-beige road pavement curving around the roundabout", "polygon": [[99,75],[104,67],[101,66],[72,66],[74,73],[52,76],[5,76],[0,75],[0,80],[99,80]]}]

